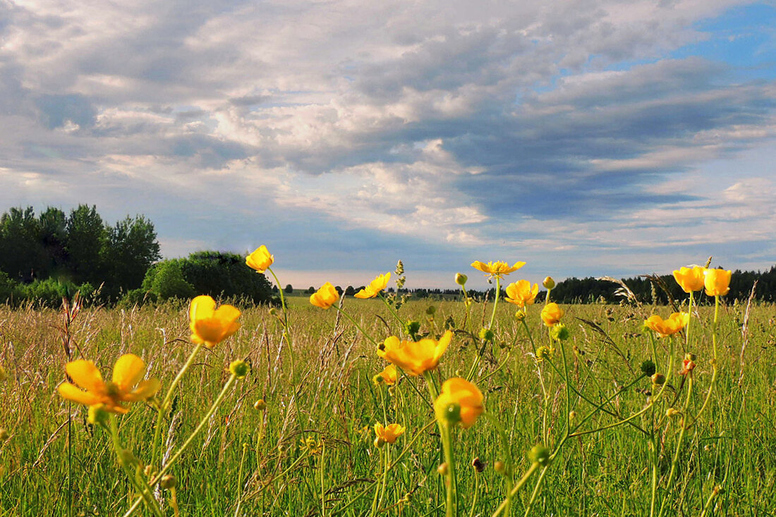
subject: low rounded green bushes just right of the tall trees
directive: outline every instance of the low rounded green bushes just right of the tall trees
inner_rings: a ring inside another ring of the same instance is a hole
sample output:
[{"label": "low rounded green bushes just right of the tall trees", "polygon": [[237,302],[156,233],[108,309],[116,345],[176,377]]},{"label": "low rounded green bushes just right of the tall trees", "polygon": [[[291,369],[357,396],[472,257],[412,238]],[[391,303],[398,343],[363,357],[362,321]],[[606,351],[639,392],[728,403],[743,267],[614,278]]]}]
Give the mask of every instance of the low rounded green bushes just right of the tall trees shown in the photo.
[{"label": "low rounded green bushes just right of the tall trees", "polygon": [[[181,277],[177,276],[176,270],[182,272]],[[192,287],[185,296],[180,294],[180,290],[185,289],[184,283]],[[242,297],[254,304],[274,301],[272,286],[266,277],[245,265],[244,257],[235,253],[196,252],[187,259],[159,262],[148,270],[143,286],[160,298],[175,293],[172,296]]]}]

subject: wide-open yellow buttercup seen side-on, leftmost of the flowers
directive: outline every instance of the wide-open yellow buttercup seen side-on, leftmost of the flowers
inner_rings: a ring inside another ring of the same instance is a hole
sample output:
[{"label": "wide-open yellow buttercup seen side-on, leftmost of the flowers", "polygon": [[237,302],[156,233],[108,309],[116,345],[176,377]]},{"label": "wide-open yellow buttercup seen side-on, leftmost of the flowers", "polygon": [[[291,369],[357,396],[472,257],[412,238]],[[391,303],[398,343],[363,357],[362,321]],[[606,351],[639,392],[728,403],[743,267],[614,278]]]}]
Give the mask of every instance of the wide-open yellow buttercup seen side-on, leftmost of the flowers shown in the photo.
[{"label": "wide-open yellow buttercup seen side-on, leftmost of the flowers", "polygon": [[144,401],[153,397],[160,387],[158,379],[141,380],[145,376],[145,363],[134,354],[125,354],[116,361],[113,379],[108,382],[102,380],[92,361],[71,361],[64,370],[75,384],[59,385],[62,398],[87,406],[103,404],[102,408],[112,413],[126,413],[129,410],[122,402]]}]

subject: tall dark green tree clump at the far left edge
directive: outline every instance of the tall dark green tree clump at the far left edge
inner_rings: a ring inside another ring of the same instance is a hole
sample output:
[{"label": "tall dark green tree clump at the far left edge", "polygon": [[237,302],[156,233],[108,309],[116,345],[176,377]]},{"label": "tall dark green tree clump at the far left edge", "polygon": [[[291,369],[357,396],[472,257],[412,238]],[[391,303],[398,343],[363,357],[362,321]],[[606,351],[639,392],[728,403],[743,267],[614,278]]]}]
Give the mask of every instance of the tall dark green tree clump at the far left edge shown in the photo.
[{"label": "tall dark green tree clump at the far left edge", "polygon": [[65,214],[32,206],[0,217],[0,300],[59,300],[98,293],[113,301],[140,287],[148,267],[161,258],[154,224],[143,216],[108,224],[96,206]]}]

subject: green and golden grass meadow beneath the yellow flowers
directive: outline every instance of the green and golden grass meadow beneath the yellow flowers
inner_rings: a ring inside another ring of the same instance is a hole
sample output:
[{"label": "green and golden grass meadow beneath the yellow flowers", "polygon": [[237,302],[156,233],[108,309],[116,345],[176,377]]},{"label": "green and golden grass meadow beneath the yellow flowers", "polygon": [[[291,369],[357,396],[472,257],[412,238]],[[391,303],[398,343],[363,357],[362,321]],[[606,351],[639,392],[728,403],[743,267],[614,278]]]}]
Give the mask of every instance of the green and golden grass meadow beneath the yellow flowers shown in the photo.
[{"label": "green and golden grass meadow beneath the yellow flowers", "polygon": [[[398,311],[429,337],[456,331],[431,373],[437,387],[476,364],[471,379],[490,416],[451,430],[459,515],[493,515],[526,473],[511,515],[776,515],[774,307],[747,314],[746,303],[723,301],[719,373],[703,411],[712,385],[713,305],[693,317],[687,350],[681,334],[651,342],[643,328],[650,314],[667,317],[668,307],[566,306],[570,337],[551,343],[541,304],[528,307],[524,328],[516,307],[503,301],[494,341],[483,346],[477,336],[491,308],[474,304],[467,317],[460,302],[423,300]],[[408,339],[380,300],[348,298],[343,310],[376,342]],[[373,383],[387,363],[334,308],[292,297],[290,344],[282,312],[273,312],[245,308],[240,330],[197,356],[165,411],[158,457],[151,457],[151,403],[116,416],[130,463],[147,478],[140,467],[158,470],[182,446],[230,379],[230,363],[252,366],[171,467],[175,490],[156,490],[162,514],[445,515],[438,472],[445,458],[424,378],[406,376],[390,388]],[[0,307],[0,428],[9,433],[0,444],[0,515],[124,515],[137,498],[109,432],[57,394],[68,362],[63,321],[61,311]],[[527,329],[535,347],[554,349],[544,359],[535,359]],[[160,394],[194,346],[187,304],[85,308],[69,332],[73,359],[93,360],[105,377],[122,354],[141,356],[148,376],[161,380]],[[696,354],[697,367],[681,376],[685,352]],[[664,388],[640,370],[652,356],[658,372],[673,371]],[[259,399],[265,411],[254,408]],[[670,408],[676,414],[667,416]],[[378,449],[378,422],[407,431]],[[528,453],[537,444],[553,453],[551,463],[534,466]],[[485,465],[481,473],[474,458]],[[144,505],[137,514],[151,515]]]}]

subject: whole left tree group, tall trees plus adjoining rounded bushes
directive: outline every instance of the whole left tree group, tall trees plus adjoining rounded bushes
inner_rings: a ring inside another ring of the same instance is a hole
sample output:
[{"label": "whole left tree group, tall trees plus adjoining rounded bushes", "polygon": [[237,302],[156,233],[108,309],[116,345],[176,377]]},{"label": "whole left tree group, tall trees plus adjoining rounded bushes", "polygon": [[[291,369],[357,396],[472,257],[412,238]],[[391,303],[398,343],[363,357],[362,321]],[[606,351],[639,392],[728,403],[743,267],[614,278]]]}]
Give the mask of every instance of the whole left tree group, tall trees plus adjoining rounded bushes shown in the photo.
[{"label": "whole left tree group, tall trees plus adjoining rounded bushes", "polygon": [[154,224],[143,216],[107,224],[96,206],[69,214],[12,208],[0,216],[0,303],[59,307],[81,293],[87,302],[132,306],[199,294],[274,300],[264,275],[234,253],[196,252],[161,259]]}]

